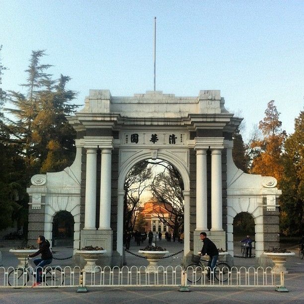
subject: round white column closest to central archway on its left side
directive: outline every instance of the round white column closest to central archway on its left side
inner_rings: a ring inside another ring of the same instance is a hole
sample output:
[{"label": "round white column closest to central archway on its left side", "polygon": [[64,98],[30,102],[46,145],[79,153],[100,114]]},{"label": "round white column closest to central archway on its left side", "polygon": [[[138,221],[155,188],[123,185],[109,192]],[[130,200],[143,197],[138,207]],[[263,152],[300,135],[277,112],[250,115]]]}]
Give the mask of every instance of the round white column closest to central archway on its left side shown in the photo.
[{"label": "round white column closest to central archway on its left side", "polygon": [[112,150],[101,150],[100,213],[98,230],[111,229],[111,159]]}]

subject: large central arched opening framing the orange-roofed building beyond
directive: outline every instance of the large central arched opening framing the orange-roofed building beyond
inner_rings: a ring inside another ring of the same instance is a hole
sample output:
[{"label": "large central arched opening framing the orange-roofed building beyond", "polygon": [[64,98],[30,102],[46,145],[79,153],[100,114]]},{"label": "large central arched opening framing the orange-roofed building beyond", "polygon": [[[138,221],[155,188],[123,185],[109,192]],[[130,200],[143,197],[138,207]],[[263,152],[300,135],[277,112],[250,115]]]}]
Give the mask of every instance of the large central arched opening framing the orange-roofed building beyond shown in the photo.
[{"label": "large central arched opening framing the orange-roofed building beyond", "polygon": [[[182,244],[179,235],[184,232],[184,182],[179,170],[162,159],[144,159],[135,163],[124,182],[124,236],[133,232],[132,246],[139,245],[136,235],[152,232],[157,246],[167,247],[159,232],[172,234],[171,252],[178,252]],[[164,235],[165,236],[165,235]],[[126,241],[126,237],[124,240]],[[175,243],[175,246],[174,244]],[[142,240],[148,245],[148,239]],[[126,246],[127,247],[127,246]],[[129,245],[128,245],[129,247]],[[138,250],[134,248],[134,250]],[[126,254],[128,263],[128,254]],[[182,254],[180,254],[182,259]]]}]

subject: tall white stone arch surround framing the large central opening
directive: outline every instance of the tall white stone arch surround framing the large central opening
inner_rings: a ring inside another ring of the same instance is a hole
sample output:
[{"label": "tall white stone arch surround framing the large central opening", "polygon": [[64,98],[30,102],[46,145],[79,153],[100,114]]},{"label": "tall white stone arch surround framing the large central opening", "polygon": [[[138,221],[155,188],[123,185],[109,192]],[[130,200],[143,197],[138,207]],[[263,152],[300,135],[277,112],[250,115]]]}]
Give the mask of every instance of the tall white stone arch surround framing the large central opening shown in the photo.
[{"label": "tall white stone arch surround framing the large central opening", "polygon": [[[125,153],[125,155],[123,155]],[[127,155],[127,156],[126,156]],[[184,183],[184,256],[190,251],[190,177],[189,150],[183,149],[120,149],[118,177],[118,208],[117,208],[117,251],[123,254],[123,198],[124,182],[128,172],[138,162],[145,159],[163,159],[179,171]]]}]

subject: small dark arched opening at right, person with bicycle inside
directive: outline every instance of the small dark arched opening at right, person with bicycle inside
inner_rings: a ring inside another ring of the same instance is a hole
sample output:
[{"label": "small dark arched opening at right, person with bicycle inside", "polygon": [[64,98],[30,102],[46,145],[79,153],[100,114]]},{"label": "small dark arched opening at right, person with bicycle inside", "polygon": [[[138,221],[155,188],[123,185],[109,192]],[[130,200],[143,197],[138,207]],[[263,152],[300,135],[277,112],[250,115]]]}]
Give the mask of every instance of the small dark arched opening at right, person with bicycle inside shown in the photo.
[{"label": "small dark arched opening at right, person with bicycle inside", "polygon": [[[251,245],[247,244],[247,235],[252,240]],[[243,241],[243,242],[241,242]],[[251,248],[251,247],[252,248]],[[255,223],[251,214],[240,212],[233,219],[233,252],[235,257],[255,256]]]}]

